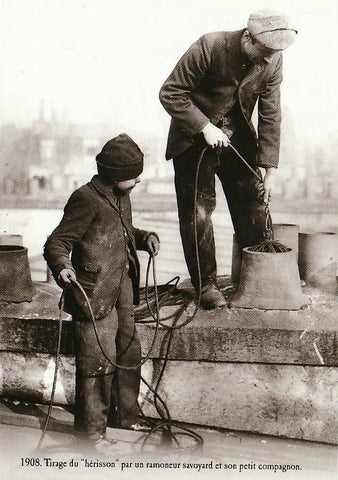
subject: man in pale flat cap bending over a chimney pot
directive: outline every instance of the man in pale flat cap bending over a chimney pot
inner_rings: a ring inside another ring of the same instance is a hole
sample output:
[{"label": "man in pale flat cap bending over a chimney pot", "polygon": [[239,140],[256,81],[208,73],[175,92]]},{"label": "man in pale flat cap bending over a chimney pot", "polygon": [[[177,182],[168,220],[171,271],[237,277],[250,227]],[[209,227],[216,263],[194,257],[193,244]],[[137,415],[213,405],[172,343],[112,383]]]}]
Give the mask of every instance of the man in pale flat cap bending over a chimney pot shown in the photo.
[{"label": "man in pale flat cap bending over a chimney pot", "polygon": [[[265,205],[271,195],[280,145],[282,53],[295,39],[289,20],[272,11],[253,13],[246,29],[203,35],[163,84],[160,101],[172,121],[166,158],[173,158],[180,233],[191,276],[205,308],[225,305],[217,287],[211,214],[215,174],[242,249],[263,240]],[[258,135],[252,113],[258,101]],[[229,147],[261,175],[262,182]],[[202,154],[205,146],[209,148]],[[194,229],[194,179],[200,156]]]}]

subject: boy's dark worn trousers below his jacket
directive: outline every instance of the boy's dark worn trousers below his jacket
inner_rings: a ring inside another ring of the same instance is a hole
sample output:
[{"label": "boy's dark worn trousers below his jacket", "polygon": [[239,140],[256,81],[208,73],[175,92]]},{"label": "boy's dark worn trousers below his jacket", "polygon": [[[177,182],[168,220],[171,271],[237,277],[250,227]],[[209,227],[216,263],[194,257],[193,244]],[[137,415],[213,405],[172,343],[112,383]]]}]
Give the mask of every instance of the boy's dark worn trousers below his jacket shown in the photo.
[{"label": "boy's dark worn trousers below his jacket", "polygon": [[[125,366],[138,365],[141,361],[131,299],[132,282],[125,269],[116,308],[96,322],[104,352],[112,362]],[[74,430],[78,436],[96,440],[105,434],[112,403],[120,419],[118,426],[129,427],[136,423],[140,368],[115,369],[98,345],[92,322],[73,320],[76,345]]]}]

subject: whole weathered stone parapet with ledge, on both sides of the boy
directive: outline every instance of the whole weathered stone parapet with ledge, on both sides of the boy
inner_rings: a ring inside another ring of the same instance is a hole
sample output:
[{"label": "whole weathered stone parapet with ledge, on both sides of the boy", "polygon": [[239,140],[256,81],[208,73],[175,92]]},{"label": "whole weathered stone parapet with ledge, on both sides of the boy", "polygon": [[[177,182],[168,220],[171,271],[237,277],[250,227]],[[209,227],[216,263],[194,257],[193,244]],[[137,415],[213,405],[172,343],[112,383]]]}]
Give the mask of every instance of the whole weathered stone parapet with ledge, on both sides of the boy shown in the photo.
[{"label": "whole weathered stone parapet with ledge, on both sides of the boy", "polygon": [[[337,297],[311,290],[305,293],[312,300],[305,310],[199,309],[193,322],[175,330],[159,387],[172,419],[335,443]],[[57,287],[37,282],[31,303],[1,304],[0,395],[48,402],[59,297]],[[176,308],[161,308],[162,318]],[[75,372],[72,322],[67,314],[62,319],[55,402],[71,405]],[[146,355],[155,326],[138,324],[137,329]],[[142,367],[150,383],[156,381],[165,357],[166,333],[159,328],[150,358]],[[155,417],[145,387],[140,400],[145,413]]]}]

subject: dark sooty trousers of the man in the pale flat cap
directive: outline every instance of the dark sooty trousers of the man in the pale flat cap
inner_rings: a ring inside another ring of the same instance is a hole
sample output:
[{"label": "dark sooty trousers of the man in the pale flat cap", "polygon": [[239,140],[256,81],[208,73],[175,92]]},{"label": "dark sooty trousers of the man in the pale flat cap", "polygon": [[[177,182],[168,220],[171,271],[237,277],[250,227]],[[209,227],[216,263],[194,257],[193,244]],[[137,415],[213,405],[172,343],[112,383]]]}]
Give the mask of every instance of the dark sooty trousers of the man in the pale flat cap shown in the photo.
[{"label": "dark sooty trousers of the man in the pale flat cap", "polygon": [[[231,143],[244,156],[240,139],[239,129],[231,138]],[[198,157],[205,145],[201,142],[174,159],[180,233],[195,288],[199,281],[194,234],[194,184]],[[216,281],[215,241],[211,221],[216,206],[215,174],[223,187],[239,247],[255,245],[264,239],[266,214],[261,200],[262,183],[229,147],[223,148],[219,157],[216,150],[208,148],[200,164],[196,204],[202,286]]]}]

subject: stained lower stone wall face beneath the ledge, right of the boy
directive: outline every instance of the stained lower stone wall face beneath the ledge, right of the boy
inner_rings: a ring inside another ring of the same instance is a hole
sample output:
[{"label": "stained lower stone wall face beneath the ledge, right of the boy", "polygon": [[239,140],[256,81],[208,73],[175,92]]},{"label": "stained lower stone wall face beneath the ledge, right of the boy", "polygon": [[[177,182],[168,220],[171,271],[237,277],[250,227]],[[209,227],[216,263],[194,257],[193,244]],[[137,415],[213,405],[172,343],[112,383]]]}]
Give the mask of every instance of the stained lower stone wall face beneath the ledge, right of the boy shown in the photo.
[{"label": "stained lower stone wall face beneath the ledge, right of the boy", "polygon": [[[160,362],[146,367],[151,382]],[[181,422],[336,443],[337,385],[334,367],[171,361],[158,393]],[[156,416],[144,398],[144,413]]]}]

